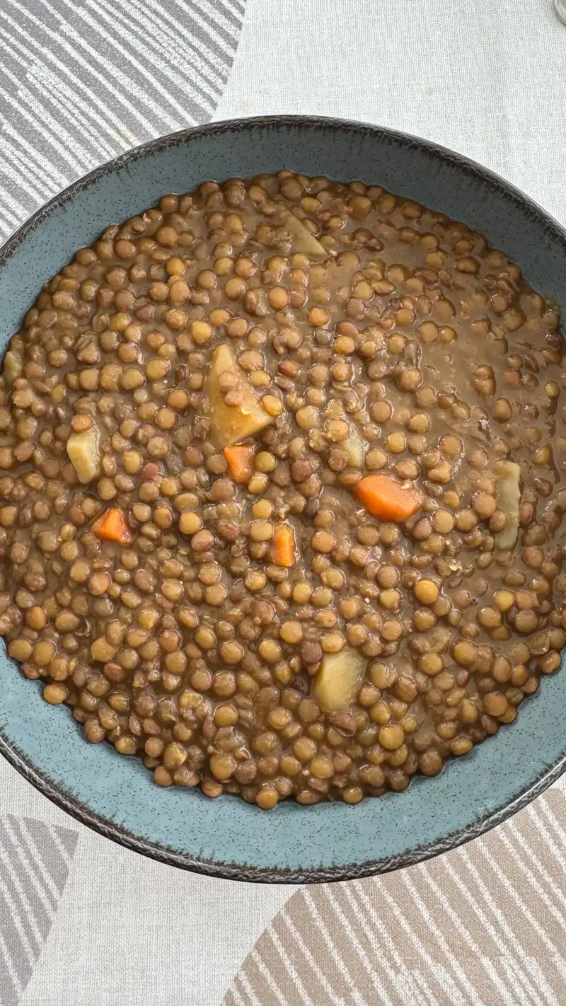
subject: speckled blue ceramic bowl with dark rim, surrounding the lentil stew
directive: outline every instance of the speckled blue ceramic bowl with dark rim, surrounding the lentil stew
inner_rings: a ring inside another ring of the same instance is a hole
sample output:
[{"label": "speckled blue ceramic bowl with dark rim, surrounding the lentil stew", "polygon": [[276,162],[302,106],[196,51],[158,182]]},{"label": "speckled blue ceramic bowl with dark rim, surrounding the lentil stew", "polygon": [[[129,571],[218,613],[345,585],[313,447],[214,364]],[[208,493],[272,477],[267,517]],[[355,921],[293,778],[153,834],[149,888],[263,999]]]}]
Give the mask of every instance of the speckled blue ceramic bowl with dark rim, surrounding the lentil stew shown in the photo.
[{"label": "speckled blue ceramic bowl with dark rim, surrounding the lentil stew", "polygon": [[[103,228],[200,182],[292,168],[386,186],[483,231],[535,290],[566,303],[566,232],[502,179],[413,137],[330,119],[272,118],[176,133],[119,157],[52,199],[0,253],[0,346],[41,284]],[[357,807],[284,803],[272,813],[232,797],[160,789],[141,762],[90,745],[64,707],[41,698],[0,655],[0,750],[83,824],[163,862],[241,880],[292,883],[367,876],[453,848],[542,793],[566,768],[566,673],[542,682],[502,729],[434,779]]]}]

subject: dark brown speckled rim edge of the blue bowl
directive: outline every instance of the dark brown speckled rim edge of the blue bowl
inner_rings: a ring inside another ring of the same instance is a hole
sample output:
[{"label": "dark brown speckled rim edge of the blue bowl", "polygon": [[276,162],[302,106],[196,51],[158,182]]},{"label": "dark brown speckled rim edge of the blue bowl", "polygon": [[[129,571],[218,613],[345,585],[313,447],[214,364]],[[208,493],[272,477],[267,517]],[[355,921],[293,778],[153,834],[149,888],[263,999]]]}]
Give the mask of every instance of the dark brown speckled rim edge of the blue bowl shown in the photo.
[{"label": "dark brown speckled rim edge of the blue bowl", "polygon": [[[134,163],[146,156],[159,154],[170,146],[188,144],[193,139],[198,140],[201,137],[242,130],[252,133],[256,129],[264,130],[269,127],[275,129],[295,127],[306,130],[315,128],[335,130],[337,132],[346,130],[355,132],[361,136],[373,137],[376,140],[391,140],[406,148],[416,148],[425,151],[435,160],[451,162],[461,171],[476,176],[476,178],[485,184],[487,183],[492,189],[500,192],[503,191],[507,198],[511,198],[523,211],[527,210],[545,227],[555,241],[563,245],[566,254],[566,228],[558,220],[513,183],[506,181],[497,172],[484,167],[463,154],[458,154],[440,144],[410,133],[405,133],[402,130],[381,127],[362,121],[326,116],[275,115],[218,120],[201,126],[164,134],[132,147],[117,157],[97,166],[91,171],[56,192],[7,237],[4,243],[0,245],[0,270],[21,241],[39,223],[46,219],[54,209],[64,205],[72,199],[75,193],[83,191],[106,175],[114,174],[128,164]],[[119,845],[167,865],[202,873],[207,876],[217,876],[223,879],[244,882],[326,883],[329,881],[360,879],[380,873],[387,873],[406,866],[413,866],[416,863],[441,855],[443,852],[458,848],[490,831],[512,817],[519,810],[525,808],[566,772],[565,750],[554,765],[544,769],[530,786],[509,803],[504,803],[495,810],[488,812],[485,816],[479,818],[465,828],[448,832],[440,838],[433,839],[431,842],[423,845],[415,846],[395,856],[368,859],[362,863],[347,863],[328,867],[306,868],[304,870],[275,866],[257,867],[248,864],[227,863],[195,857],[187,853],[176,852],[158,842],[134,835],[121,825],[115,824],[108,818],[104,818],[102,815],[91,811],[87,805],[80,803],[71,794],[53,784],[47,776],[37,769],[31,759],[17,744],[7,740],[2,733],[2,726],[3,724],[0,724],[0,754],[27,782],[31,783],[36,790],[80,824],[91,828],[105,838],[109,838]],[[399,797],[398,794],[394,796]],[[304,810],[308,812],[309,809],[305,808]],[[274,818],[273,820],[276,819]]]}]

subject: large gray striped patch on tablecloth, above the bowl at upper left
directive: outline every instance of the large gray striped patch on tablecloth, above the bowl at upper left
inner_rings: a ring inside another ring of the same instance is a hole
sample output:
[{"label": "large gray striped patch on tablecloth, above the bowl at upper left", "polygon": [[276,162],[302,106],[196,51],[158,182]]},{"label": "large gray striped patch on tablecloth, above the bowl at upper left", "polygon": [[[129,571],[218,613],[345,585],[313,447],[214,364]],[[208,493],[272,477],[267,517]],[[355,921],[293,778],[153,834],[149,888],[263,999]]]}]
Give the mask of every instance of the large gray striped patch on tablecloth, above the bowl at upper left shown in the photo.
[{"label": "large gray striped patch on tablecloth, above the bowl at upper left", "polygon": [[0,240],[145,140],[209,121],[245,0],[2,0]]}]

